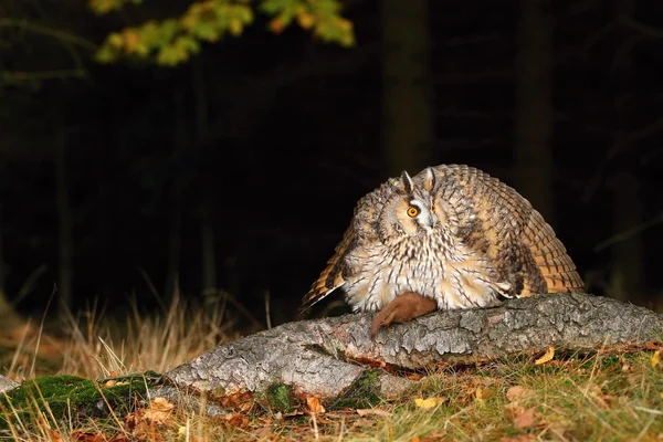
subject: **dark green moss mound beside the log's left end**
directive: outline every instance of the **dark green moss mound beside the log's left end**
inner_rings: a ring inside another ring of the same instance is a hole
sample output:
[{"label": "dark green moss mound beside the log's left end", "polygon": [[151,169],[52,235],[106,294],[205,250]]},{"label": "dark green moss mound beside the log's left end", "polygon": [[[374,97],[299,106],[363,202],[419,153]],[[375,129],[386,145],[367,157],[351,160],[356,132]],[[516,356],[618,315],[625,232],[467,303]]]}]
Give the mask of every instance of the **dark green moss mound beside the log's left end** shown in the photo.
[{"label": "dark green moss mound beside the log's left end", "polygon": [[0,397],[0,428],[8,428],[8,419],[29,424],[38,412],[57,421],[69,417],[107,418],[110,412],[123,415],[145,392],[146,381],[140,377],[118,378],[113,387],[70,375],[36,377]]}]

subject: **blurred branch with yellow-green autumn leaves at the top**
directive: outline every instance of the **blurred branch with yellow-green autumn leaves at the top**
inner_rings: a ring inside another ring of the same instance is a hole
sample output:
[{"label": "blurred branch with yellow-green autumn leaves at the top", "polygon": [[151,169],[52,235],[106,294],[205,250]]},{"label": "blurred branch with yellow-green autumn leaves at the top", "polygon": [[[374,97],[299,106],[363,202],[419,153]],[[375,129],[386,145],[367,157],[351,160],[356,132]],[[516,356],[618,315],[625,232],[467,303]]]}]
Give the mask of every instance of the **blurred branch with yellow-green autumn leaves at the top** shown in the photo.
[{"label": "blurred branch with yellow-green autumn leaves at the top", "polygon": [[[143,0],[90,0],[97,14],[115,11],[126,3]],[[101,63],[120,57],[155,57],[158,64],[177,65],[200,52],[203,42],[217,42],[227,35],[239,36],[255,18],[255,12],[270,17],[273,33],[283,32],[296,22],[325,42],[351,46],[355,44],[352,23],[340,15],[338,0],[204,0],[189,6],[178,17],[150,20],[109,34],[96,53]]]}]

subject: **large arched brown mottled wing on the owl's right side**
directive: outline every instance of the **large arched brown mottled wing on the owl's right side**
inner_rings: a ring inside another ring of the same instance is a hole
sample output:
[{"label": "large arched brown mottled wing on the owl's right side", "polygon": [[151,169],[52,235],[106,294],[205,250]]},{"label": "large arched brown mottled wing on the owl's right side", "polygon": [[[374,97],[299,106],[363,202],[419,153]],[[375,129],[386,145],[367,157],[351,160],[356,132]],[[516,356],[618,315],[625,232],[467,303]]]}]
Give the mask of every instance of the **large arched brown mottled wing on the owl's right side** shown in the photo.
[{"label": "large arched brown mottled wing on the owl's right side", "polygon": [[583,283],[552,228],[529,201],[495,177],[469,167],[434,168],[438,191],[456,213],[462,241],[486,257],[516,296],[582,291]]}]

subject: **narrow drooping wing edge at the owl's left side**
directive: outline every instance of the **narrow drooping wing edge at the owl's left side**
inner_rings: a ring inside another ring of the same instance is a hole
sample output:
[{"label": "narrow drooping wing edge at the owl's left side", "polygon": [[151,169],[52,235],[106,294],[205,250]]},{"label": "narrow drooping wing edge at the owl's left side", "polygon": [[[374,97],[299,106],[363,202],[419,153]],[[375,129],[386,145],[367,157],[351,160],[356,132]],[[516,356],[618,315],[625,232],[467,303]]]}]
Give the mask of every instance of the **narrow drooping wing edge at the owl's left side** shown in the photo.
[{"label": "narrow drooping wing edge at the owl's left side", "polygon": [[318,278],[313,283],[311,290],[302,299],[299,316],[304,314],[318,301],[325,298],[329,293],[345,284],[345,276],[348,270],[345,264],[345,256],[356,244],[356,233],[354,224],[345,231],[343,240],[335,249],[334,255],[327,261],[327,266],[320,272]]}]

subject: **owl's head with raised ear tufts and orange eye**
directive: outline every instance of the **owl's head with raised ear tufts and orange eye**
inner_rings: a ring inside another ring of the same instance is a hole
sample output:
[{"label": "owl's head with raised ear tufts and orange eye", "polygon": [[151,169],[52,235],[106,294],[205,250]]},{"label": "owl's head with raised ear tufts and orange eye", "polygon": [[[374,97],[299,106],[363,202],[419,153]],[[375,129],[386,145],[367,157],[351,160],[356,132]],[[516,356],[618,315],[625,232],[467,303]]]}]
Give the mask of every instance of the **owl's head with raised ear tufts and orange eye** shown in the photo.
[{"label": "owl's head with raised ear tufts and orange eye", "polygon": [[[428,169],[427,169],[428,170]],[[382,238],[425,235],[433,232],[438,217],[431,190],[434,187],[432,170],[423,172],[422,180],[412,180],[407,171],[389,181],[393,192],[380,215]]]}]

